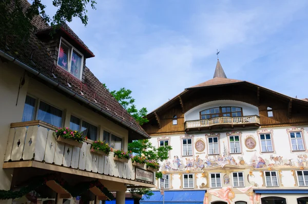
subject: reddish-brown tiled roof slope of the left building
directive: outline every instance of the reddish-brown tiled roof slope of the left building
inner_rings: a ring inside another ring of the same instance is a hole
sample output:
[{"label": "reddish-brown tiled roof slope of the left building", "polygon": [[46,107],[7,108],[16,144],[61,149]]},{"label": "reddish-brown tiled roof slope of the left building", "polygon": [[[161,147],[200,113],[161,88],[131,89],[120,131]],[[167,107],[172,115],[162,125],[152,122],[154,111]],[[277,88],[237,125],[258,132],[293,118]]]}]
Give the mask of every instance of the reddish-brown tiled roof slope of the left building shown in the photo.
[{"label": "reddish-brown tiled roof slope of the left building", "polygon": [[[22,2],[25,7],[29,6],[29,3],[26,0],[23,0]],[[11,5],[10,8],[12,9],[13,5]],[[41,16],[35,16],[32,23],[37,27],[37,29],[40,30],[49,28]],[[67,26],[67,28],[69,27]],[[67,89],[70,89],[74,93],[96,104],[101,109],[110,113],[112,117],[119,118],[123,123],[128,124],[134,129],[139,130],[143,135],[148,136],[137,121],[134,120],[131,115],[118,103],[118,101],[102,86],[99,79],[94,76],[90,69],[86,68],[84,70],[86,76],[85,83],[81,83],[81,81],[79,81],[79,83],[74,83],[74,81],[76,81],[74,77],[65,72],[59,66],[54,65],[53,59],[49,56],[46,47],[40,39],[38,39],[34,32],[30,34],[29,43],[25,43],[22,46],[13,47],[13,42],[14,37],[9,36],[7,40],[7,47],[10,50],[7,50],[6,43],[0,40],[0,49],[17,58],[24,64],[41,72],[50,79],[63,85]],[[33,55],[31,60],[30,57],[32,51]],[[53,77],[52,73],[56,76],[56,78]],[[71,88],[68,87],[67,83],[71,85]],[[81,91],[83,95],[81,94]]]}]

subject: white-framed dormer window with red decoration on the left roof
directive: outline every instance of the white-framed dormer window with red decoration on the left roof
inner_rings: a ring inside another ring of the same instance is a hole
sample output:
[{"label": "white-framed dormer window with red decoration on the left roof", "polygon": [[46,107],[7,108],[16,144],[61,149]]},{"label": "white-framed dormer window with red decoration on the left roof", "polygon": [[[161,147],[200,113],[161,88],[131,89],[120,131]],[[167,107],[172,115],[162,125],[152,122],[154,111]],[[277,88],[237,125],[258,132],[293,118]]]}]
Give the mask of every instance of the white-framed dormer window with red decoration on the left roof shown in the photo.
[{"label": "white-framed dormer window with red decoration on the left roof", "polygon": [[60,41],[57,64],[76,78],[81,79],[83,55],[66,43],[63,38]]}]

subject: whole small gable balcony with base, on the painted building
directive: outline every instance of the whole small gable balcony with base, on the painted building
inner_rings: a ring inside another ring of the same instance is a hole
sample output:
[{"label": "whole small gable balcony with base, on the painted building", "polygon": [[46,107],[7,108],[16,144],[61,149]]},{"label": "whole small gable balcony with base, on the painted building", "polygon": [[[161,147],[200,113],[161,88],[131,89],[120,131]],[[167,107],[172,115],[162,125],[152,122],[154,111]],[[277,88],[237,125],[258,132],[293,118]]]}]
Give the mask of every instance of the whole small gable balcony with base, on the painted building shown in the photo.
[{"label": "whole small gable balcony with base, on the painted building", "polygon": [[186,132],[190,130],[246,126],[260,127],[260,117],[258,115],[248,115],[240,117],[213,117],[209,119],[185,121]]}]

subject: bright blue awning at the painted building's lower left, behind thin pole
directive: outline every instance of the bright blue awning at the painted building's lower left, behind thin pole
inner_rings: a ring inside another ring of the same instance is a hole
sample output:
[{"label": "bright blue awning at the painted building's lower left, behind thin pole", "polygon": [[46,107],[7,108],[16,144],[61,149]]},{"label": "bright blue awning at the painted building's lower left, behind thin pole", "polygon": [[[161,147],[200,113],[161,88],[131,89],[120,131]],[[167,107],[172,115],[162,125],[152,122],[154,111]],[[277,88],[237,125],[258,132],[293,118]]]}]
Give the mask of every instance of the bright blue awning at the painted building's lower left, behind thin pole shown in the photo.
[{"label": "bright blue awning at the painted building's lower left, behind thin pole", "polygon": [[[165,204],[203,204],[204,194],[206,191],[165,191]],[[163,195],[160,191],[153,191],[152,196],[147,198],[142,196],[140,204],[160,204],[163,203]]]}]

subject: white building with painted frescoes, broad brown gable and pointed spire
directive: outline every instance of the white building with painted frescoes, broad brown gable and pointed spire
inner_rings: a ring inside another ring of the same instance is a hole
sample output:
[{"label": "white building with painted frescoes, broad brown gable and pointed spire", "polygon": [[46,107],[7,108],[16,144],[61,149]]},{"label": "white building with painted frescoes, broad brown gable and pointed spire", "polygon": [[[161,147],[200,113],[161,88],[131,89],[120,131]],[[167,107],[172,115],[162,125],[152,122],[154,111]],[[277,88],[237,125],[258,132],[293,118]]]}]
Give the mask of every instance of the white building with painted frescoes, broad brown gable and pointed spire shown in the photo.
[{"label": "white building with painted frescoes, broad brown gable and pointed spire", "polygon": [[213,79],[185,89],[148,119],[143,128],[152,144],[173,148],[160,169],[167,197],[203,191],[202,200],[194,193],[187,199],[308,203],[307,99],[228,79],[218,60]]}]

